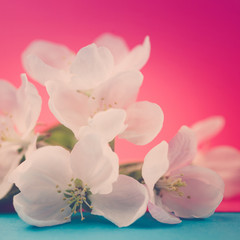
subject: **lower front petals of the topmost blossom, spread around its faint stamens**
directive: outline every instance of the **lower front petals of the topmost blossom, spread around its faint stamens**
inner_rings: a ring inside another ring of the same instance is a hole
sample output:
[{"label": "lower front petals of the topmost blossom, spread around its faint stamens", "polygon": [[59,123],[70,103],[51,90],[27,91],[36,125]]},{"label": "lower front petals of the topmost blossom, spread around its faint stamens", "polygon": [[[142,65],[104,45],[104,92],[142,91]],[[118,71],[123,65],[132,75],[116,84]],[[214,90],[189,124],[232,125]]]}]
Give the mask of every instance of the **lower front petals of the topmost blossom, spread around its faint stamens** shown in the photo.
[{"label": "lower front petals of the topmost blossom, spread around its faint stamens", "polygon": [[155,103],[136,102],[142,79],[137,71],[120,73],[89,93],[72,90],[67,84],[47,82],[49,107],[54,116],[70,128],[76,137],[80,128],[91,125],[91,122],[101,121],[108,124],[107,127],[113,126],[117,118],[111,117],[110,113],[114,111],[109,110],[123,109],[127,115],[127,127],[119,137],[144,145],[152,141],[161,130],[163,112]]}]

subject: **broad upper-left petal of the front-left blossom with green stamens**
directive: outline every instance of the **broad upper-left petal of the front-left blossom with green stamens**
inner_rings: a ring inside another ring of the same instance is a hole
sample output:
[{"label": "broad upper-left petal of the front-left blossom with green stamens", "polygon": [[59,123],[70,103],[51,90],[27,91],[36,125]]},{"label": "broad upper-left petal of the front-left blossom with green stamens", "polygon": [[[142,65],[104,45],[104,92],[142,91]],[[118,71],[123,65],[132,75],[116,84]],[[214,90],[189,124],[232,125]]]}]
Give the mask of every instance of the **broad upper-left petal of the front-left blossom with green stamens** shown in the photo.
[{"label": "broad upper-left petal of the front-left blossom with green stamens", "polygon": [[66,190],[73,176],[69,157],[69,152],[61,147],[39,148],[11,173],[10,180],[29,202],[63,201],[63,193],[57,191]]}]

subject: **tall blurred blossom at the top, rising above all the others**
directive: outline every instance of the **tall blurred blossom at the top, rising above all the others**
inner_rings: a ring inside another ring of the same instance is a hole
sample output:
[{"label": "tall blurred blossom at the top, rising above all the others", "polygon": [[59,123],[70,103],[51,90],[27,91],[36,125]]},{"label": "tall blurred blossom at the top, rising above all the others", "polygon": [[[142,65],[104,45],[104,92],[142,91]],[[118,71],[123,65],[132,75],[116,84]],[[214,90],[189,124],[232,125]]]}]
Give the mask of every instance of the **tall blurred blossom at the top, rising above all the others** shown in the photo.
[{"label": "tall blurred blossom at the top, rising above all the others", "polygon": [[149,143],[163,124],[157,104],[136,102],[143,80],[138,70],[149,58],[149,38],[131,51],[123,39],[111,34],[100,36],[96,43],[74,54],[63,45],[35,41],[23,53],[23,64],[33,79],[46,85],[52,113],[76,137],[82,126],[99,125],[98,120],[114,125],[114,111],[106,110],[116,108],[127,115],[119,137],[138,145]]}]

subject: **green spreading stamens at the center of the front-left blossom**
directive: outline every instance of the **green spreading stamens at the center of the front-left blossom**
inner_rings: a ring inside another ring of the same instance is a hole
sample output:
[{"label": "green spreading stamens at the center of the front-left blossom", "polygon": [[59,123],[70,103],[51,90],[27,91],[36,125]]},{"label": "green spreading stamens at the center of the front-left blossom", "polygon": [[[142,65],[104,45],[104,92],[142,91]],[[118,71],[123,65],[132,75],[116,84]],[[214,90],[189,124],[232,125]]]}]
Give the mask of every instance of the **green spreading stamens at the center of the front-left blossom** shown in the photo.
[{"label": "green spreading stamens at the center of the front-left blossom", "polygon": [[[91,211],[91,201],[89,200],[89,196],[92,194],[90,188],[87,185],[83,185],[82,180],[75,178],[71,179],[71,183],[68,184],[69,189],[66,189],[63,192],[64,198],[63,200],[67,202],[68,206],[71,208],[71,214],[65,219],[70,218],[73,214],[80,212],[81,220],[84,220],[83,217],[83,209],[85,211]],[[61,193],[62,191],[59,189],[59,186],[56,186],[57,192]],[[62,208],[60,211],[63,212],[65,209]]]}]

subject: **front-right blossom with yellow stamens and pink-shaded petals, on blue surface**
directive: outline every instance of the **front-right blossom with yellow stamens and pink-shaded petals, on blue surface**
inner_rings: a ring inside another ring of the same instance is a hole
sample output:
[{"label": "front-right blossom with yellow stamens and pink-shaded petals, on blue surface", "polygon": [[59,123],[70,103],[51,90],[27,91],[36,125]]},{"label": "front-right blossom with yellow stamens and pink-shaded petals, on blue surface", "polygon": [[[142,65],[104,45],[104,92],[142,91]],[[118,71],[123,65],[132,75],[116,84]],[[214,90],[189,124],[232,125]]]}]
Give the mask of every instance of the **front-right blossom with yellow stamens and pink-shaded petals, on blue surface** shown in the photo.
[{"label": "front-right blossom with yellow stamens and pink-shaded petals, on blue surface", "polygon": [[221,202],[223,181],[212,170],[191,165],[196,151],[194,133],[183,126],[169,144],[163,141],[146,155],[142,175],[156,220],[175,224],[178,217],[209,217]]}]

